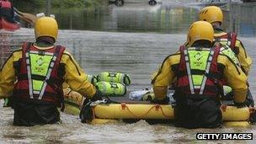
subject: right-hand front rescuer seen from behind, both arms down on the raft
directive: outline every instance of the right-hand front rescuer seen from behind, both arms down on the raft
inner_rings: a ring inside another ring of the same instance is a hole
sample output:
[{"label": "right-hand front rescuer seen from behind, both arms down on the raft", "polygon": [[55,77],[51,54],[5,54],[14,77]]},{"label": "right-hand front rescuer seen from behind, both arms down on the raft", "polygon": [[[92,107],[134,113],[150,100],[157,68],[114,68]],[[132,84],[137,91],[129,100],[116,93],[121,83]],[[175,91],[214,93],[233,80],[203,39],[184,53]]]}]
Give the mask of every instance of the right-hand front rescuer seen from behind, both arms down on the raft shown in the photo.
[{"label": "right-hand front rescuer seen from behind, both arms down on the raft", "polygon": [[[176,100],[174,117],[177,126],[186,128],[217,127],[221,124],[219,95],[222,82],[233,89],[234,104],[243,106],[248,90],[247,77],[220,47],[212,47],[214,30],[208,22],[197,21],[190,26],[189,44],[168,56],[153,76],[153,103],[168,102],[170,83],[174,84]],[[175,79],[175,80],[174,80]]]}]

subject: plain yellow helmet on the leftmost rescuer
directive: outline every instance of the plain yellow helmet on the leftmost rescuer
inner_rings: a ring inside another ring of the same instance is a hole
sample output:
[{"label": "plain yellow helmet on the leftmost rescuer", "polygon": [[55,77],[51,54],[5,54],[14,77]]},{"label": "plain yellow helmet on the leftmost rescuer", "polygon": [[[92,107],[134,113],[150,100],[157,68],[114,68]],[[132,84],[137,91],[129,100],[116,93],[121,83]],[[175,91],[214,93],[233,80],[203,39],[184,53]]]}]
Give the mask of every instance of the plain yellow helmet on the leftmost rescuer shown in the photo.
[{"label": "plain yellow helmet on the leftmost rescuer", "polygon": [[58,24],[51,17],[42,17],[35,22],[35,39],[40,36],[50,36],[56,41],[58,35]]}]

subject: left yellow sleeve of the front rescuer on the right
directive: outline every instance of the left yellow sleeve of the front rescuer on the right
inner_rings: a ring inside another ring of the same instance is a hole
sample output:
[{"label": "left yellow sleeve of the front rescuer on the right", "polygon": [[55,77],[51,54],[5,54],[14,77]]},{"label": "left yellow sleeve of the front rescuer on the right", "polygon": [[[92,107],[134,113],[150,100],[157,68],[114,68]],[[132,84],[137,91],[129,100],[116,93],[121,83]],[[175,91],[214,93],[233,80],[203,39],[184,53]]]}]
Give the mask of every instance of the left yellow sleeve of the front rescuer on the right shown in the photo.
[{"label": "left yellow sleeve of the front rescuer on the right", "polygon": [[156,99],[164,99],[167,96],[168,86],[173,82],[173,78],[175,77],[171,67],[173,64],[178,64],[179,59],[179,54],[168,56],[163,61],[163,64],[159,68],[158,72],[155,72],[152,79],[152,87]]}]

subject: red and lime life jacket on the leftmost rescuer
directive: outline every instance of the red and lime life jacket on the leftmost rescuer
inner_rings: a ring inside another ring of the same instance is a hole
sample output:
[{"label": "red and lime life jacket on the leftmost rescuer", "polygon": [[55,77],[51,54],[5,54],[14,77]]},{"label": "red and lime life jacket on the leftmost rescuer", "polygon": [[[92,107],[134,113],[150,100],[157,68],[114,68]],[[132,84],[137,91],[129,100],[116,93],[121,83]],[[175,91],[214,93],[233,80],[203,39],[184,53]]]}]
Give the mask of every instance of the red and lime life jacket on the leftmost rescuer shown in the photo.
[{"label": "red and lime life jacket on the leftmost rescuer", "polygon": [[[61,107],[64,102],[62,91],[64,73],[60,72],[62,66],[60,61],[64,51],[65,47],[61,45],[39,50],[32,43],[24,43],[22,58],[19,59],[18,64],[14,64],[18,82],[14,85],[13,100],[56,104]],[[64,110],[64,107],[62,108]]]}]

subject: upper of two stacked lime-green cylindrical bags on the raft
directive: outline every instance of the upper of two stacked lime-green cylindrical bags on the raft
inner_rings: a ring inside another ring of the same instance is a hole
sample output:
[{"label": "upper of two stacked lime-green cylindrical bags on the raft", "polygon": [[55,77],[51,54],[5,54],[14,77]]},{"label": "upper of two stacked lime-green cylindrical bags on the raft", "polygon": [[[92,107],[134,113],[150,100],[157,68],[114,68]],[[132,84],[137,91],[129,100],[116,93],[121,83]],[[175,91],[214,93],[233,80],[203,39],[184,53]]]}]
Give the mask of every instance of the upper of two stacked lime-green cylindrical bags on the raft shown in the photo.
[{"label": "upper of two stacked lime-green cylindrical bags on the raft", "polygon": [[131,84],[129,75],[120,72],[101,72],[98,75],[99,82],[123,83],[125,85]]}]

